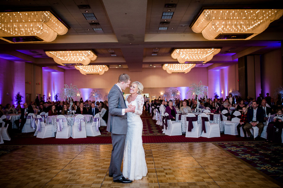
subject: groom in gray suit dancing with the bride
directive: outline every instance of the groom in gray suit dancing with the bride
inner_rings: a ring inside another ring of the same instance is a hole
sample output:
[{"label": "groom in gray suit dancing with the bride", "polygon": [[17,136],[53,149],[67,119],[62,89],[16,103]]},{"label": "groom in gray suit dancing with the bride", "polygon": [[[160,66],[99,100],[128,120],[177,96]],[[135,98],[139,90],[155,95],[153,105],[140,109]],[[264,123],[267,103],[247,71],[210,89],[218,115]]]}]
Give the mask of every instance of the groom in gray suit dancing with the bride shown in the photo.
[{"label": "groom in gray suit dancing with the bride", "polygon": [[115,84],[108,93],[108,123],[107,131],[111,133],[112,153],[109,166],[109,177],[117,183],[131,183],[121,172],[121,165],[124,155],[126,134],[128,130],[127,112],[134,112],[135,106],[126,107],[122,90],[129,87],[131,82],[130,76],[121,74],[118,83]]}]

